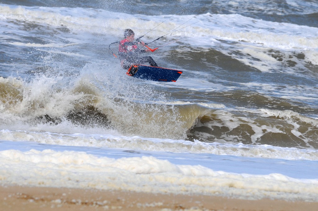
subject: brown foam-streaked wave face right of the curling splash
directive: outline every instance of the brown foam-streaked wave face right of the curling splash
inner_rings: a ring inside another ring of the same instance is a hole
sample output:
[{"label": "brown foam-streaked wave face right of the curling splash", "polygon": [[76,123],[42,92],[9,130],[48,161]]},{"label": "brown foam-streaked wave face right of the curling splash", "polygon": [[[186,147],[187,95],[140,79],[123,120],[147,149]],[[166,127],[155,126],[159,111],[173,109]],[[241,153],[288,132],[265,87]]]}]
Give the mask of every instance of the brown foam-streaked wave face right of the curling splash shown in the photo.
[{"label": "brown foam-streaked wave face right of the curling splash", "polygon": [[[317,120],[292,111],[260,109],[217,110],[198,119],[187,133],[207,142],[269,144],[282,147],[318,148]],[[264,112],[264,113],[263,113]],[[266,115],[272,113],[272,115]],[[272,118],[272,117],[275,118]]]}]

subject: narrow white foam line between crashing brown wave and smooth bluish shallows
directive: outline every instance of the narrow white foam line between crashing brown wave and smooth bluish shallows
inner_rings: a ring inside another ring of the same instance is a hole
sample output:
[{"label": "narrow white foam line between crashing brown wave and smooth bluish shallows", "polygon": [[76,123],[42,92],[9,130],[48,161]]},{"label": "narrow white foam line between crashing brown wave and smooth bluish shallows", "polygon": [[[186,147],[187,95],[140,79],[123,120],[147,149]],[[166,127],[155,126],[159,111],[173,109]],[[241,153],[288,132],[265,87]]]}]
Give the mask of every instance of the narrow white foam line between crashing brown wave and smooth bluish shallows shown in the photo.
[{"label": "narrow white foam line between crashing brown wave and smooth bluish shallows", "polygon": [[318,151],[309,149],[277,147],[269,145],[243,145],[205,143],[201,141],[147,139],[138,136],[87,135],[39,133],[14,130],[0,130],[2,140],[34,141],[43,144],[63,146],[93,146],[126,148],[171,153],[211,153],[242,157],[273,158],[286,160],[318,160]]}]

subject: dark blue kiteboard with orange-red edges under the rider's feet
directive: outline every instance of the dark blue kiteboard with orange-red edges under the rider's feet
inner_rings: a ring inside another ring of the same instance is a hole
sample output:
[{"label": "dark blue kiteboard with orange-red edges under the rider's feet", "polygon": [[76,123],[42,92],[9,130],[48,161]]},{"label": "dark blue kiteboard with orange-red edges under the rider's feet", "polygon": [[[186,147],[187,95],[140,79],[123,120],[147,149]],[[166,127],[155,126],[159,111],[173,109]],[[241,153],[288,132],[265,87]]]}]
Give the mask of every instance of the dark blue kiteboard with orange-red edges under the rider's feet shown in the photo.
[{"label": "dark blue kiteboard with orange-red edges under the rider's feet", "polygon": [[147,65],[131,65],[126,74],[144,80],[176,82],[182,71]]}]

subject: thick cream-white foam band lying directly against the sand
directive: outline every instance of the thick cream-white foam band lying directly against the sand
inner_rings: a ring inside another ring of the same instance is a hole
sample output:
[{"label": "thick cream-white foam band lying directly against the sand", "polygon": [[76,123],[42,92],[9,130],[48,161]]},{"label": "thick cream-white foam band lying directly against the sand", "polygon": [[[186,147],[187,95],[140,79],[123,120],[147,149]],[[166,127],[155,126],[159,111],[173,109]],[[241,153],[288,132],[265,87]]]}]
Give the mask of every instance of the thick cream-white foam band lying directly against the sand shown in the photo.
[{"label": "thick cream-white foam band lying directly against the sand", "polygon": [[[175,165],[151,156],[112,159],[83,152],[0,151],[0,183],[44,187],[207,194],[243,199],[317,201],[318,180]],[[8,168],[10,166],[10,168]]]}]

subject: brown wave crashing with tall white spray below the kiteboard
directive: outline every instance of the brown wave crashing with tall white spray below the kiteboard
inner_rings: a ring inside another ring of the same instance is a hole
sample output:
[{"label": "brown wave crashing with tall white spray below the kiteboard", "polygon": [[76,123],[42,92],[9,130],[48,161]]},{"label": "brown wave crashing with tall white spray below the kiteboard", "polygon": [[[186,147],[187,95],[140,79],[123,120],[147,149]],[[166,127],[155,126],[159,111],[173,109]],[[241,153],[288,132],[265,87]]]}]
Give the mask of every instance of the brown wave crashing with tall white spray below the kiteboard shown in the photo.
[{"label": "brown wave crashing with tall white spray below the kiteboard", "polygon": [[133,93],[130,90],[138,85],[127,81],[126,89],[113,87],[112,90],[108,86],[99,87],[101,85],[94,77],[82,75],[75,81],[67,82],[70,79],[38,76],[29,83],[17,78],[0,78],[3,95],[0,108],[4,114],[0,118],[1,127],[20,125],[30,129],[48,125],[50,131],[62,129],[64,132],[72,131],[77,126],[100,130],[106,127],[126,135],[177,139],[185,138],[185,131],[197,118],[193,112],[184,114],[184,119],[181,119],[180,111],[174,104],[144,101],[156,94],[164,99],[162,93],[156,93],[147,86],[140,85],[139,91]]}]

